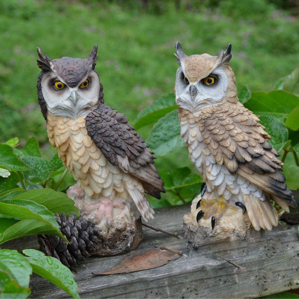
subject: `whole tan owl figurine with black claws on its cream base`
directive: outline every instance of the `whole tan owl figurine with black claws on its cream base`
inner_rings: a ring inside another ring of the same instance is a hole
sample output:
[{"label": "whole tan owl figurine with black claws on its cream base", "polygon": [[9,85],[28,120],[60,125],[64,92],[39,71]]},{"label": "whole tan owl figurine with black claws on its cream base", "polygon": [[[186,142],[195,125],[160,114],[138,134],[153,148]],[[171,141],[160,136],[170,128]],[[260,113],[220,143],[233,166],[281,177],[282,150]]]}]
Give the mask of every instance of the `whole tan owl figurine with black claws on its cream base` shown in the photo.
[{"label": "whole tan owl figurine with black claws on its cream base", "polygon": [[177,42],[175,56],[181,137],[204,181],[184,223],[205,236],[244,237],[251,225],[271,230],[278,214],[270,200],[287,212],[296,202],[271,137],[239,102],[231,44],[218,56],[187,56]]}]

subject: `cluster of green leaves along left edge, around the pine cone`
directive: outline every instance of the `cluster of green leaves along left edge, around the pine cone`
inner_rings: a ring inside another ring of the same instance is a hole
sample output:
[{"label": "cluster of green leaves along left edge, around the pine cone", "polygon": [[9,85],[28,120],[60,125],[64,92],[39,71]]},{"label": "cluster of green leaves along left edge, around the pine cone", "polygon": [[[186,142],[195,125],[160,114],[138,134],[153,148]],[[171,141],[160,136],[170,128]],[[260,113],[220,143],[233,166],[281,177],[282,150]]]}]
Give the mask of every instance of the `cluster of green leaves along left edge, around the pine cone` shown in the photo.
[{"label": "cluster of green leaves along left edge, around the pine cone", "polygon": [[[68,242],[54,216],[78,212],[73,200],[56,191],[64,187],[67,170],[56,155],[43,159],[35,138],[22,149],[17,148],[18,142],[13,138],[0,143],[0,244],[32,234],[56,235]],[[55,190],[48,188],[52,185]],[[23,254],[0,250],[0,298],[28,298],[32,272],[80,298],[74,275],[59,260],[34,249]]]}]

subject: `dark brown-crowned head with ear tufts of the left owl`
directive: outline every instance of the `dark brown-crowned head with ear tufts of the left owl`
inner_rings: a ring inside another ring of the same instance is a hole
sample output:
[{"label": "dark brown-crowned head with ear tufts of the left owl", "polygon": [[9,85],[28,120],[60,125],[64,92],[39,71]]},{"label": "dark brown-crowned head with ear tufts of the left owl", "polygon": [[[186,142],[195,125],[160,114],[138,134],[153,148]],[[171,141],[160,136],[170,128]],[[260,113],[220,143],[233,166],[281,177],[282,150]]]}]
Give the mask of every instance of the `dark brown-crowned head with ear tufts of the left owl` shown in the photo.
[{"label": "dark brown-crowned head with ear tufts of the left owl", "polygon": [[62,57],[51,60],[37,48],[42,69],[37,81],[37,94],[42,113],[77,118],[86,116],[103,102],[103,86],[94,67],[97,45],[86,59]]}]

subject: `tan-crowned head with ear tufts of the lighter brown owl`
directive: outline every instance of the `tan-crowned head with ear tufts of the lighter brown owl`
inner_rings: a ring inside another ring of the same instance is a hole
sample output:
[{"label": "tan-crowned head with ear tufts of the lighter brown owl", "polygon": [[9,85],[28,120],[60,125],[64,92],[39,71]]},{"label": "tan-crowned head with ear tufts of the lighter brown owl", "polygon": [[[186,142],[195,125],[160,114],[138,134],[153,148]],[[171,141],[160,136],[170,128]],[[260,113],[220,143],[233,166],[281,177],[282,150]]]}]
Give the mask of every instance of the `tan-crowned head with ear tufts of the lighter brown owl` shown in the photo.
[{"label": "tan-crowned head with ear tufts of the lighter brown owl", "polygon": [[176,54],[179,68],[176,72],[176,103],[195,116],[202,109],[223,103],[236,96],[234,73],[229,67],[231,44],[218,56],[209,54],[187,56],[179,42]]}]

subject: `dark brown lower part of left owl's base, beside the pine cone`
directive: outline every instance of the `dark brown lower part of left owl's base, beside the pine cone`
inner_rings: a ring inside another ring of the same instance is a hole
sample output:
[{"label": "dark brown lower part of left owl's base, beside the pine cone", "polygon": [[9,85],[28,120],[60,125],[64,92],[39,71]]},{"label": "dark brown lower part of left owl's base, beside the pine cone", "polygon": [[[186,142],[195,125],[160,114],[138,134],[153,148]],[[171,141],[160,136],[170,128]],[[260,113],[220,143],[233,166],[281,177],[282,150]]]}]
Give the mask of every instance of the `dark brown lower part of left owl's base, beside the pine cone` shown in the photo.
[{"label": "dark brown lower part of left owl's base, beside the pine cone", "polygon": [[100,232],[100,243],[91,254],[103,257],[125,254],[136,249],[142,237],[142,223],[139,218],[134,224],[128,223],[126,227],[116,228],[111,233]]}]

